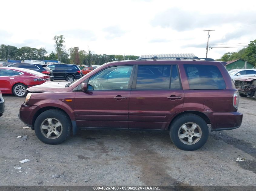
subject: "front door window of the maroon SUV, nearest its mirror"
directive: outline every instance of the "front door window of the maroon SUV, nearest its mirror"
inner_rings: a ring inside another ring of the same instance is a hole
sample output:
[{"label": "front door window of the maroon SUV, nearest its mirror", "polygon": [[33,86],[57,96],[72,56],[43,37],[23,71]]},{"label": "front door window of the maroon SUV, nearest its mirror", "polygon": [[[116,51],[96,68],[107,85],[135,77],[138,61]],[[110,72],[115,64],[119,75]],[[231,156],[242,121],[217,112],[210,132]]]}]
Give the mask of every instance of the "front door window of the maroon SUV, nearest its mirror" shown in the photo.
[{"label": "front door window of the maroon SUV, nearest its mirror", "polygon": [[88,90],[127,90],[133,66],[106,68],[92,76]]}]

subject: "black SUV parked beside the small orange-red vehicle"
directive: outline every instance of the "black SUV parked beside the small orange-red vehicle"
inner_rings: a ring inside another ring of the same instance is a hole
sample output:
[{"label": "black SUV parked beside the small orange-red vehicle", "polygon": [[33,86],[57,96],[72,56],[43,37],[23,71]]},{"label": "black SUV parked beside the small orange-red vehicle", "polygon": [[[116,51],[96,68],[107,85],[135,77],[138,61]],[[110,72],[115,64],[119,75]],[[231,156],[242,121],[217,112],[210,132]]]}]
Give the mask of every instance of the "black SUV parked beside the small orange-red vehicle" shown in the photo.
[{"label": "black SUV parked beside the small orange-red vehicle", "polygon": [[50,64],[55,80],[75,81],[82,77],[81,69],[74,64]]}]

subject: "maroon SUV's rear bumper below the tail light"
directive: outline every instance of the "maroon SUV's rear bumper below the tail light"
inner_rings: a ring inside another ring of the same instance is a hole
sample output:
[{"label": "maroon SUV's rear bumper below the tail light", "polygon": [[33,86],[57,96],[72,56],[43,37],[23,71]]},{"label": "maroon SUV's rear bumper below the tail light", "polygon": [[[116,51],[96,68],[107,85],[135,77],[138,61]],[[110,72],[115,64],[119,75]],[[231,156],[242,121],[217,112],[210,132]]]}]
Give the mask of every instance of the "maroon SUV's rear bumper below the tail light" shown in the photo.
[{"label": "maroon SUV's rear bumper below the tail light", "polygon": [[236,111],[231,113],[205,113],[211,121],[211,131],[236,129],[241,126],[243,114]]}]

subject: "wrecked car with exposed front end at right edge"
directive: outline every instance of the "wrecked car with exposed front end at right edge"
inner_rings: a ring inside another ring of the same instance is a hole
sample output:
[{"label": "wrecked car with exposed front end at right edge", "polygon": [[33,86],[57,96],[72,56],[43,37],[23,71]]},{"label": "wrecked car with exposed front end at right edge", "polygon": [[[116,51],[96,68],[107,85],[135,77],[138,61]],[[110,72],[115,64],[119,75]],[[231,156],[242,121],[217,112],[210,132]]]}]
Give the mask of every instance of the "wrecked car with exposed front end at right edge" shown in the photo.
[{"label": "wrecked car with exposed front end at right edge", "polygon": [[256,75],[237,78],[235,87],[241,97],[255,97],[256,99]]}]

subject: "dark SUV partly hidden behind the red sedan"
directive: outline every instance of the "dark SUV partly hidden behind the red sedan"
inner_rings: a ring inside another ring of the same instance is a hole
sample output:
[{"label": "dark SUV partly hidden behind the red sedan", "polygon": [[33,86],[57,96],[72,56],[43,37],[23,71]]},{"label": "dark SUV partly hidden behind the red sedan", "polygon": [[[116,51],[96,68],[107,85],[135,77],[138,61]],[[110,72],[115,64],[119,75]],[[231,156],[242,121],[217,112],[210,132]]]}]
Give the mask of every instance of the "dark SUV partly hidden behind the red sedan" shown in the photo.
[{"label": "dark SUV partly hidden behind the red sedan", "polygon": [[51,81],[54,80],[53,72],[46,64],[14,63],[14,64],[9,64],[6,67],[25,68],[29,70],[35,70],[37,72],[50,76]]}]

